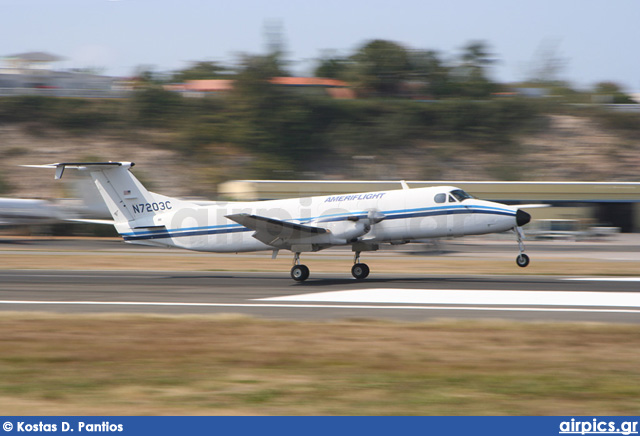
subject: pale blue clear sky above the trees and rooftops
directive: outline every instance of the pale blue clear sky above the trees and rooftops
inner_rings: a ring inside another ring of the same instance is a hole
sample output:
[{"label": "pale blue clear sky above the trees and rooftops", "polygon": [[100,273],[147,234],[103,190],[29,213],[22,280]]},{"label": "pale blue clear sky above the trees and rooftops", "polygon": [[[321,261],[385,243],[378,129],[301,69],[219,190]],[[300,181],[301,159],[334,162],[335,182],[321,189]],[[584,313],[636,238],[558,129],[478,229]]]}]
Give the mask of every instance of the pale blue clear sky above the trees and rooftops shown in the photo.
[{"label": "pale blue clear sky above the trees and rooftops", "polygon": [[0,15],[0,58],[45,51],[65,58],[59,69],[108,75],[230,64],[265,53],[265,29],[276,23],[300,75],[327,50],[350,55],[372,39],[446,58],[484,41],[501,82],[527,79],[546,48],[576,87],[612,81],[640,91],[640,0],[0,0]]}]

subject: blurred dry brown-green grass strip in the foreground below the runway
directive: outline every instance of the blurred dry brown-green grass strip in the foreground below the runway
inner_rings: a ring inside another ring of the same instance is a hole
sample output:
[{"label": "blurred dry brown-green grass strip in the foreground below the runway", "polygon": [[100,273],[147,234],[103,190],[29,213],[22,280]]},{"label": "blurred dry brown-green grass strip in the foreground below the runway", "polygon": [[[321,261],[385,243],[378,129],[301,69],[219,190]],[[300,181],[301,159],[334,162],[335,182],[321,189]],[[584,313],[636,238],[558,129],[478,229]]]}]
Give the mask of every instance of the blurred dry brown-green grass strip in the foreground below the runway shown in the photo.
[{"label": "blurred dry brown-green grass strip in the foreground below the runway", "polygon": [[640,326],[0,318],[6,415],[617,415]]}]

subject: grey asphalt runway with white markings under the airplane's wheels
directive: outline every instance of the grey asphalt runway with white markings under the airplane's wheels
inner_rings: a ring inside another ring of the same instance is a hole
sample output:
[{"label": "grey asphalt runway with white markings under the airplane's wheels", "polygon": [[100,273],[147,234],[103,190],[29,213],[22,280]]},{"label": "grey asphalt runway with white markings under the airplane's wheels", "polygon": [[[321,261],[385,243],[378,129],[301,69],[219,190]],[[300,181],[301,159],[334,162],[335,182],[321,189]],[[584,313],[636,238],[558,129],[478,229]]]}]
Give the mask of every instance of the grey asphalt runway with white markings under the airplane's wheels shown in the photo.
[{"label": "grey asphalt runway with white markings under the airplane's wheels", "polygon": [[3,270],[0,310],[640,323],[639,288],[638,277]]}]

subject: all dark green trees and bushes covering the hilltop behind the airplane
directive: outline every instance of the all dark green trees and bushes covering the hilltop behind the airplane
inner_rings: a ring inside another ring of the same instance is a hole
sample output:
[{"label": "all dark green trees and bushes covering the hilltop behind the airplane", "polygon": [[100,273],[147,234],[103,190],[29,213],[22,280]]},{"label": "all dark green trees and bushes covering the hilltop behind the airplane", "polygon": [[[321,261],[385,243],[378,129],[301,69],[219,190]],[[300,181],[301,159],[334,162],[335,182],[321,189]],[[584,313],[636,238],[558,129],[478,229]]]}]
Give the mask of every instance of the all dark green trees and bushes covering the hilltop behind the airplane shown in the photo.
[{"label": "all dark green trees and bushes covering the hilltop behind the airplane", "polygon": [[[385,40],[369,41],[350,56],[320,59],[316,74],[350,83],[358,96],[351,101],[271,84],[271,78],[289,74],[282,51],[274,47],[266,55],[243,55],[235,68],[196,62],[169,79],[233,78],[233,91],[223,95],[185,98],[166,91],[148,73],[134,96],[124,100],[2,98],[0,123],[27,123],[34,133],[47,127],[77,135],[100,131],[137,142],[144,142],[139,132],[155,129],[165,133],[155,145],[200,162],[215,162],[221,150],[231,150],[250,157],[252,173],[244,176],[269,178],[303,177],[323,164],[351,163],[357,155],[382,160],[425,141],[445,144],[438,145],[441,154],[451,143],[464,143],[470,153],[508,153],[523,134],[540,131],[551,113],[579,113],[627,136],[640,134],[636,113],[585,106],[598,100],[630,102],[614,83],[579,92],[553,81],[555,73],[539,72],[522,87],[542,88],[545,97],[502,92],[509,89],[490,79],[494,59],[482,42],[470,42],[449,60]],[[558,62],[548,57],[547,70],[555,71]]]}]

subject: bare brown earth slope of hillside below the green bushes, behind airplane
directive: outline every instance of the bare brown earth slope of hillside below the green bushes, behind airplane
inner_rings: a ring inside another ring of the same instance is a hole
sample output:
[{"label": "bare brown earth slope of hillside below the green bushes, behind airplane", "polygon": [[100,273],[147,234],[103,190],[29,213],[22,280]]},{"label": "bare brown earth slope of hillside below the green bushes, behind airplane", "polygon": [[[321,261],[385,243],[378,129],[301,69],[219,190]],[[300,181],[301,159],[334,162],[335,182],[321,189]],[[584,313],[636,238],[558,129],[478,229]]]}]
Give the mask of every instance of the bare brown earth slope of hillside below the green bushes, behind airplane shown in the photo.
[{"label": "bare brown earth slope of hillside below the green bushes, behind airplane", "polygon": [[[208,154],[188,156],[168,146],[175,135],[160,128],[73,133],[35,123],[0,125],[0,180],[3,196],[55,198],[72,195],[53,183],[51,171],[22,164],[60,161],[128,160],[152,190],[175,196],[216,195],[216,184],[251,178],[255,166],[269,174],[264,159],[231,145],[211,145]],[[392,145],[392,144],[390,144]],[[366,150],[365,150],[366,151]],[[534,132],[506,145],[479,147],[478,141],[415,140],[378,154],[356,156],[349,149],[329,153],[315,170],[291,173],[272,156],[272,178],[406,180],[638,181],[640,142],[606,129],[590,117],[546,115]],[[267,161],[268,162],[268,161]],[[265,177],[268,178],[268,177]]]}]

